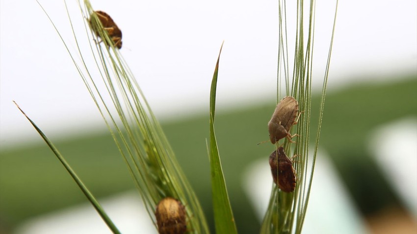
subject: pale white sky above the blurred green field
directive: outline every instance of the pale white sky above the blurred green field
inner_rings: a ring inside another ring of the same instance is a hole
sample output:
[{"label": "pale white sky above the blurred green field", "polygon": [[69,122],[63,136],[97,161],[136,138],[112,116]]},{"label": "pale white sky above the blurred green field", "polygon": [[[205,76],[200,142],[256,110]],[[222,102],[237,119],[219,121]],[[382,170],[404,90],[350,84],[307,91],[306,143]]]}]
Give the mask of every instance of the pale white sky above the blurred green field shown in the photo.
[{"label": "pale white sky above the blurred green field", "polygon": [[[79,18],[75,0],[68,2],[73,18]],[[220,107],[274,100],[277,0],[114,2],[92,0],[95,9],[107,12],[122,29],[121,52],[158,117],[208,112],[209,86],[223,40],[217,89]],[[75,51],[63,1],[41,3]],[[335,0],[317,1],[314,74],[318,86],[334,6]],[[289,37],[288,41],[293,40]],[[416,70],[416,0],[339,2],[331,89],[368,74],[379,77]],[[35,0],[0,1],[0,91],[2,146],[26,139],[40,141],[12,100],[50,137],[104,127],[65,48]]]}]

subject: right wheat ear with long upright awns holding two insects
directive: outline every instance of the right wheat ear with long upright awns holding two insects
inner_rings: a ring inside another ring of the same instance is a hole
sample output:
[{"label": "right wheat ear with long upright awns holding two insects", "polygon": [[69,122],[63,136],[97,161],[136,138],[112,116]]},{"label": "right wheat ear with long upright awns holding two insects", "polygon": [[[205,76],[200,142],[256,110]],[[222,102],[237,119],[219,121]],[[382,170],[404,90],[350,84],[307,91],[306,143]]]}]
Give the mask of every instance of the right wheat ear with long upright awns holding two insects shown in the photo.
[{"label": "right wheat ear with long upright awns holding two insects", "polygon": [[[322,124],[322,116],[324,110],[324,99],[326,94],[327,79],[329,76],[330,58],[333,45],[333,37],[336,25],[336,13],[333,22],[332,38],[326,64],[326,72],[323,79],[323,88],[320,101],[319,122],[317,125],[317,135],[314,143],[313,156],[309,156],[310,143],[310,119],[311,119],[311,97],[312,97],[312,64],[313,64],[313,44],[314,44],[314,19],[315,19],[315,0],[309,2],[308,29],[307,40],[304,40],[304,15],[305,6],[303,0],[297,1],[297,24],[296,24],[296,40],[292,77],[289,73],[288,61],[288,42],[287,42],[287,10],[286,0],[279,0],[279,47],[278,47],[278,77],[277,77],[277,102],[285,95],[281,95],[282,76],[285,77],[286,95],[293,96],[298,100],[299,110],[303,112],[298,124],[292,131],[298,133],[295,144],[284,140],[284,149],[287,155],[297,155],[294,162],[297,183],[294,192],[286,193],[273,185],[268,209],[265,213],[261,234],[300,234],[305,215],[307,211],[310,190],[313,180],[314,164],[317,154],[317,147],[320,137],[320,128]],[[306,43],[306,44],[305,44]],[[305,49],[304,49],[305,48]],[[293,154],[291,154],[293,152]],[[309,167],[309,160],[313,160]]]}]

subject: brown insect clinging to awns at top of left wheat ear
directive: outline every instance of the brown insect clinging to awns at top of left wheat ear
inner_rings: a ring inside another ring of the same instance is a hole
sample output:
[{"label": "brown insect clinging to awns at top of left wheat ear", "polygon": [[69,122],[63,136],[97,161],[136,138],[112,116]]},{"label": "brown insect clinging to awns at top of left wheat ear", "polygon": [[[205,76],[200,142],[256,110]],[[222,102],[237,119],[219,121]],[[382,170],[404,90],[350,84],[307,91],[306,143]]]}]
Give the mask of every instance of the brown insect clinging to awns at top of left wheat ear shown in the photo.
[{"label": "brown insect clinging to awns at top of left wheat ear", "polygon": [[[114,46],[119,49],[122,48],[122,31],[116,25],[116,23],[114,23],[113,19],[111,19],[111,17],[104,11],[95,11],[93,14],[97,15],[98,19],[103,25],[103,29],[107,31],[108,36],[110,37]],[[93,16],[90,17],[89,22],[93,31],[98,37],[100,37],[99,32],[101,27],[98,22],[93,19]],[[108,45],[111,45],[111,43],[108,43]]]}]

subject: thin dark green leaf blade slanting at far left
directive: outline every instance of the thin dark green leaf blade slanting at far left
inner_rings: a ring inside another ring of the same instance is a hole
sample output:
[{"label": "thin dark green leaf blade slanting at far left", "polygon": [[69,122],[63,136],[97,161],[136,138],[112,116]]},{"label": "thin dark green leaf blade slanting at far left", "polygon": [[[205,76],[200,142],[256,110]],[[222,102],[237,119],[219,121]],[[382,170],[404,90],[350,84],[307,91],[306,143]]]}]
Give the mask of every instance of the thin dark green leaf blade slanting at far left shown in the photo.
[{"label": "thin dark green leaf blade slanting at far left", "polygon": [[88,188],[82,183],[81,179],[77,176],[75,171],[71,168],[70,164],[67,163],[67,161],[64,159],[64,157],[59,153],[58,149],[52,144],[51,140],[49,140],[45,134],[36,126],[36,124],[23,112],[23,110],[19,107],[19,105],[13,101],[17,108],[22,112],[23,115],[29,120],[29,122],[32,124],[32,126],[36,129],[36,131],[41,135],[41,137],[45,140],[45,142],[48,144],[48,146],[51,148],[53,153],[55,154],[56,158],[61,162],[61,164],[67,169],[68,173],[70,173],[71,177],[74,179],[74,181],[77,183],[78,187],[81,188],[84,195],[88,198],[90,203],[94,206],[97,212],[99,212],[100,216],[103,218],[104,222],[107,224],[107,226],[110,228],[110,230],[115,234],[120,234],[119,230],[116,228],[114,223],[110,220],[110,218],[107,216],[107,214],[104,212],[102,206],[97,201],[97,199],[93,196],[93,194],[88,190]]}]

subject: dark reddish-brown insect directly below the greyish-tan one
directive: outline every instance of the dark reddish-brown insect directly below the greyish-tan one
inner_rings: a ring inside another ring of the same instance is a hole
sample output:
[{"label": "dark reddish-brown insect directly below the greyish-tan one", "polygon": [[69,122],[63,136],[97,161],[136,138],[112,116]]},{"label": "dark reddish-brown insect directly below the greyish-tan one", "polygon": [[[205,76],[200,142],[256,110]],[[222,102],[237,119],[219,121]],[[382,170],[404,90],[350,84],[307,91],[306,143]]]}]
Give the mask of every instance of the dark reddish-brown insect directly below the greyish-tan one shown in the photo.
[{"label": "dark reddish-brown insect directly below the greyish-tan one", "polygon": [[292,167],[292,161],[285,154],[283,147],[279,147],[278,150],[272,152],[269,156],[269,165],[271,166],[274,183],[277,184],[278,180],[278,187],[284,192],[294,191],[296,180],[295,170]]}]

